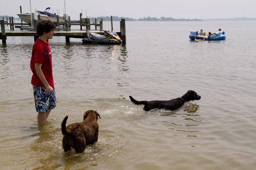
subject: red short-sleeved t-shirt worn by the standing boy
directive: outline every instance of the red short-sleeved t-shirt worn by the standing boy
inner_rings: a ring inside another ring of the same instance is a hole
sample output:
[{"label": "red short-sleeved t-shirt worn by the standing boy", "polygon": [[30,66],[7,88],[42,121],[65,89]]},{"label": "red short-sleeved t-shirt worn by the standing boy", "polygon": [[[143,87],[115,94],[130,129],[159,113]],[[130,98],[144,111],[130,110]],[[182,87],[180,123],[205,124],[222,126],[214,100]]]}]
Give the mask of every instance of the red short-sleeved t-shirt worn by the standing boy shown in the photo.
[{"label": "red short-sleeved t-shirt worn by the standing boy", "polygon": [[33,45],[32,49],[32,57],[30,61],[30,68],[33,72],[31,84],[39,87],[44,87],[43,82],[38,77],[35,71],[35,63],[42,64],[42,71],[44,73],[44,77],[50,86],[54,86],[53,84],[53,76],[52,76],[52,55],[51,49],[49,48],[48,42],[44,42],[41,39],[37,39]]}]

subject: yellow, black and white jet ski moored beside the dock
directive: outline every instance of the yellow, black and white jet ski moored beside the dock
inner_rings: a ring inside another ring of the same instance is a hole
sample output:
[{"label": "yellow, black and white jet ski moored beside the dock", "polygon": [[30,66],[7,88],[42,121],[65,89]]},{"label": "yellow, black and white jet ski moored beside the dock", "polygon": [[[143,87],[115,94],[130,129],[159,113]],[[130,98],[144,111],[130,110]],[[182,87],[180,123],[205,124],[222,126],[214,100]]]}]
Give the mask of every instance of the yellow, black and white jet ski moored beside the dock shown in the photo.
[{"label": "yellow, black and white jet ski moored beside the dock", "polygon": [[117,32],[114,31],[104,31],[104,35],[90,32],[89,38],[82,39],[82,43],[92,43],[92,44],[121,44],[122,40],[118,36]]}]

